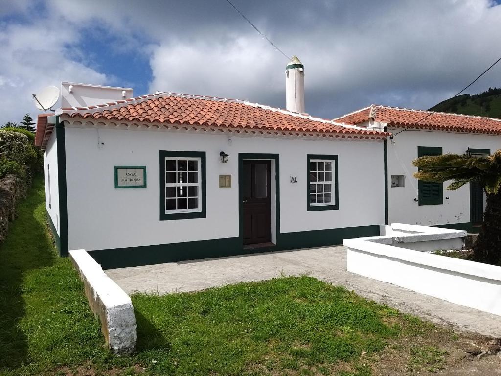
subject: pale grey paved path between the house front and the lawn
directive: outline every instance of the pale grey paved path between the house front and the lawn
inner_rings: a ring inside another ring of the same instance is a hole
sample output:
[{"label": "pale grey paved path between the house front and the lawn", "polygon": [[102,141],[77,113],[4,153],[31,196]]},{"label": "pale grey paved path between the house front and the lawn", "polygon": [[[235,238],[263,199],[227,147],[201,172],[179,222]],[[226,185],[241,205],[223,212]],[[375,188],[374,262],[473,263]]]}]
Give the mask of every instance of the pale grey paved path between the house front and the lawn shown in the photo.
[{"label": "pale grey paved path between the house front and the lawn", "polygon": [[501,317],[346,271],[343,246],[107,270],[127,293],[196,291],[241,281],[308,274],[456,330],[501,336]]}]

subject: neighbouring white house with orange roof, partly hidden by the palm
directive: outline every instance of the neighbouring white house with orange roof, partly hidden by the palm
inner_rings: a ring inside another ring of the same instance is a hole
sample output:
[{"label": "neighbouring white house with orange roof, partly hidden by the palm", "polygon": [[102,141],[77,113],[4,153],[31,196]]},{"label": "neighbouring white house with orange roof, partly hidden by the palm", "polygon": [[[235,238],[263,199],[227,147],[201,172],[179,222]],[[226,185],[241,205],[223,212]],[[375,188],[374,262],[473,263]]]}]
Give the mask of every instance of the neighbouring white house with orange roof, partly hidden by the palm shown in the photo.
[{"label": "neighbouring white house with orange roof, partly hidden by the palm", "polygon": [[417,168],[411,162],[421,155],[493,153],[501,149],[501,119],[371,105],[334,121],[393,134],[385,141],[387,168],[380,171],[388,195],[386,223],[468,231],[481,224],[485,205],[481,186],[447,191],[447,183],[414,178]]}]

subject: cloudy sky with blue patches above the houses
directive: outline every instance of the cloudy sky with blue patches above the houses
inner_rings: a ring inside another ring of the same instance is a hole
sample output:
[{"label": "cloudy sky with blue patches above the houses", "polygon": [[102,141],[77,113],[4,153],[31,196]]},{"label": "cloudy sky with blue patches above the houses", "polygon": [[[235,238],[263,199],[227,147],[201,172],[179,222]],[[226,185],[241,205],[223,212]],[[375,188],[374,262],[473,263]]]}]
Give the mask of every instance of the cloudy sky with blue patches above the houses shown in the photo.
[{"label": "cloudy sky with blue patches above the houses", "polygon": [[[306,111],[426,109],[501,56],[491,0],[232,0],[305,65]],[[0,124],[61,81],[285,107],[287,59],[225,0],[0,0]],[[501,63],[468,92],[501,86]]]}]

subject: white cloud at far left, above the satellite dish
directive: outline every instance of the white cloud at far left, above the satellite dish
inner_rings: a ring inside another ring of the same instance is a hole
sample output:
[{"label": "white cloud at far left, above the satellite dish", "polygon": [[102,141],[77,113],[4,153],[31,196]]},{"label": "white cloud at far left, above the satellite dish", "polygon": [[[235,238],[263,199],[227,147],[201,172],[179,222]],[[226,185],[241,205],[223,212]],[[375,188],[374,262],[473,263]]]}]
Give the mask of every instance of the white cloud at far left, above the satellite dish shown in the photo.
[{"label": "white cloud at far left, above the satellite dish", "polygon": [[0,124],[19,122],[27,112],[36,118],[40,112],[32,94],[48,85],[59,87],[65,80],[107,81],[105,75],[72,59],[67,46],[78,39],[78,32],[68,24],[46,19],[28,26],[11,23],[1,32]]}]

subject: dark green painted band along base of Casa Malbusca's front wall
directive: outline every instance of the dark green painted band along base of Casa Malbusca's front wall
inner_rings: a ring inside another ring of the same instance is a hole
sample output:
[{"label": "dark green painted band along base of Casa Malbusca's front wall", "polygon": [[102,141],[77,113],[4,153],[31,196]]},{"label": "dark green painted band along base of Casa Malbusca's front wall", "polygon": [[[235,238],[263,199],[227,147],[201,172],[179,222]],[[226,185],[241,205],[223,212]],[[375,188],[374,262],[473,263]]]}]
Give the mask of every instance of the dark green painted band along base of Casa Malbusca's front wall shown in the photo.
[{"label": "dark green painted band along base of Casa Malbusca's front wall", "polygon": [[298,248],[339,245],[344,239],[379,236],[379,225],[279,234],[277,246],[243,249],[236,238],[89,251],[103,269],[229,257]]}]

